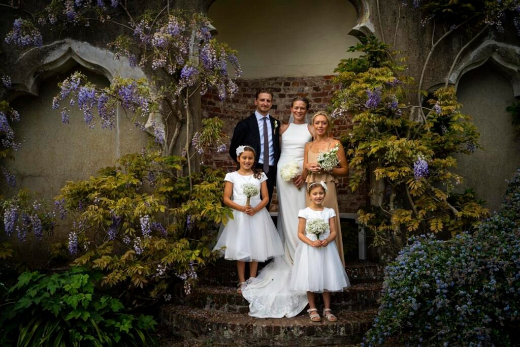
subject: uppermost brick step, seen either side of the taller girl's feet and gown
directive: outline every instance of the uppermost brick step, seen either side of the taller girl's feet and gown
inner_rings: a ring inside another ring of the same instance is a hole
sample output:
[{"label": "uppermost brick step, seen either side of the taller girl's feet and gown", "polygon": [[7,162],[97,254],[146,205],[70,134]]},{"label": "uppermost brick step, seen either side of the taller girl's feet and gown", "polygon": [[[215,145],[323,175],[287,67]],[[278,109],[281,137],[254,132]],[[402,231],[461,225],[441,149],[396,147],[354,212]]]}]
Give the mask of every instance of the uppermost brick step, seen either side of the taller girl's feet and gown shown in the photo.
[{"label": "uppermost brick step, seen either side of the taller girl's feet and gown", "polygon": [[[258,264],[259,270],[262,267],[262,263]],[[384,277],[384,266],[372,262],[349,262],[345,266],[345,271],[353,285],[381,282]],[[238,282],[236,262],[218,260],[215,265],[207,267],[200,278],[201,284],[205,285],[236,286]]]}]

